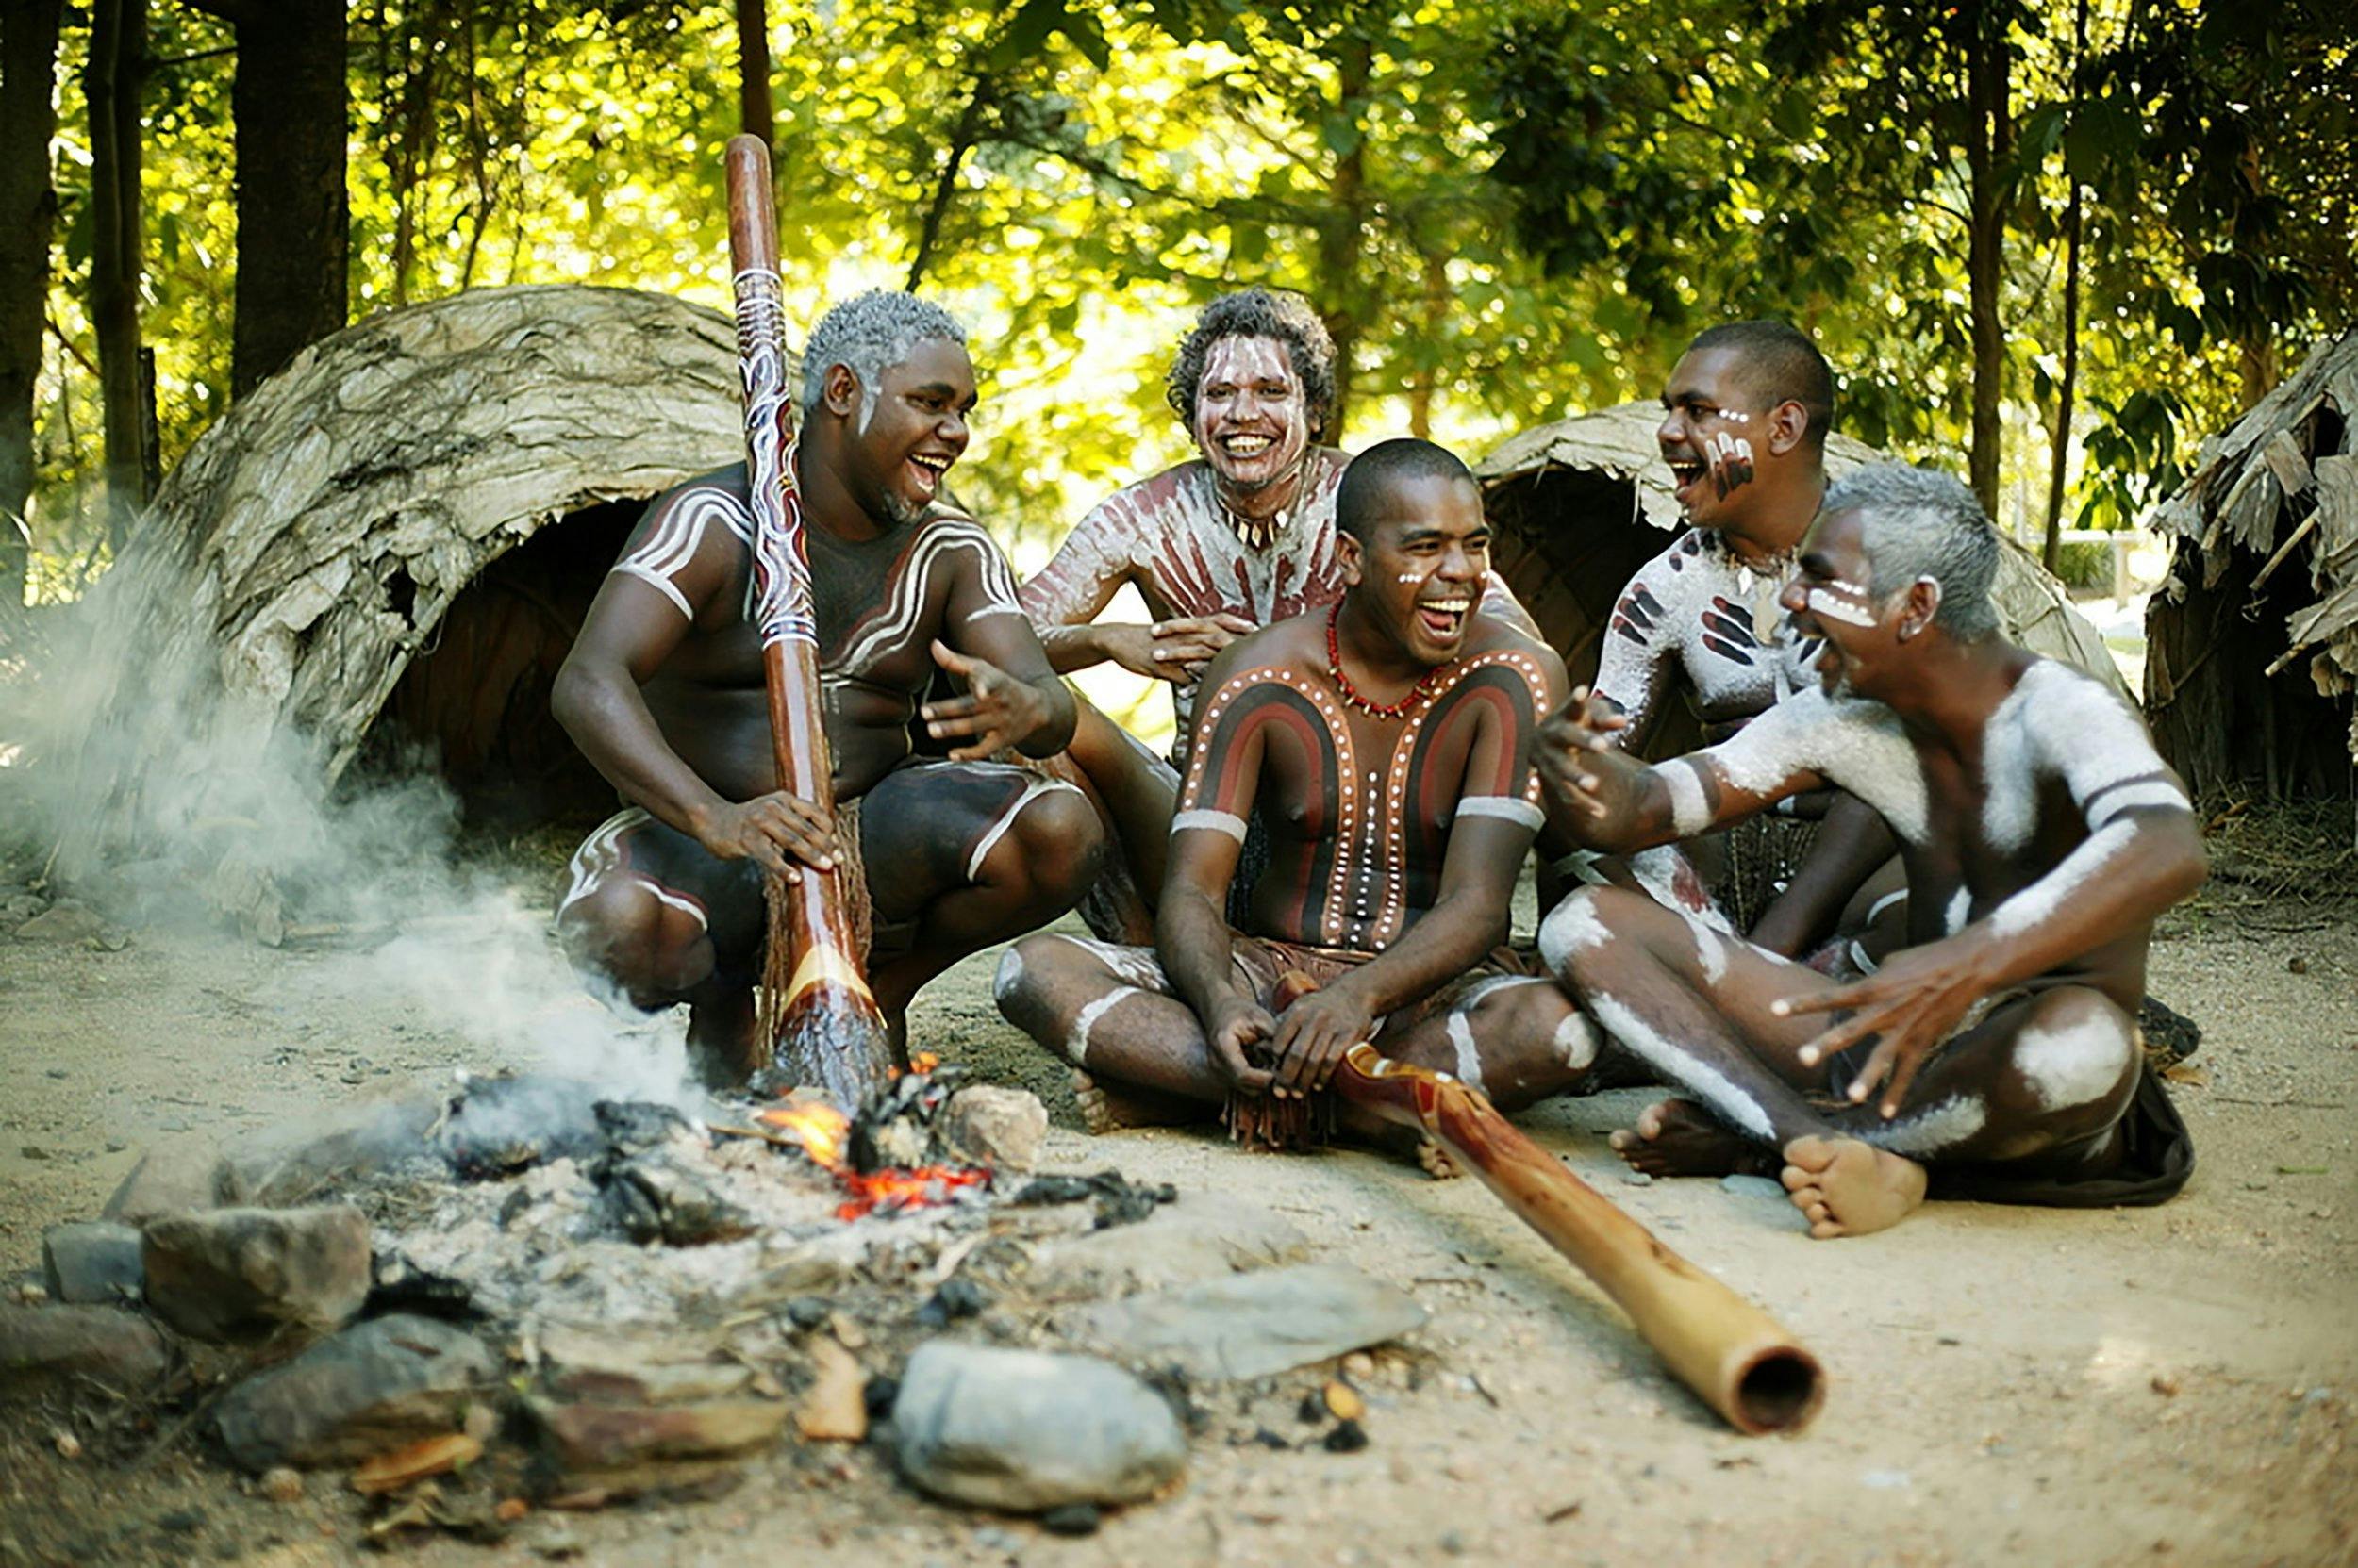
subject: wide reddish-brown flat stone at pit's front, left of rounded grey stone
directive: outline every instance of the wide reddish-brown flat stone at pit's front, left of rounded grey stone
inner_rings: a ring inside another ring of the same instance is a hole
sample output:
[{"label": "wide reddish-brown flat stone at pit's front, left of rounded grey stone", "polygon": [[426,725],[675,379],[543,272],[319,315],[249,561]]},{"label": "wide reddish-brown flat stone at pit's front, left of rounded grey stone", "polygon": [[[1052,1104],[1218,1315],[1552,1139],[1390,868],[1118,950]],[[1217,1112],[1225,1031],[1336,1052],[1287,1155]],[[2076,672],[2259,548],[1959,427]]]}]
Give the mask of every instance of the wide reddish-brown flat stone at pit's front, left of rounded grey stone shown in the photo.
[{"label": "wide reddish-brown flat stone at pit's front, left of rounded grey stone", "polygon": [[615,1495],[703,1485],[776,1443],[790,1415],[771,1398],[696,1405],[531,1401],[528,1410],[564,1490]]}]

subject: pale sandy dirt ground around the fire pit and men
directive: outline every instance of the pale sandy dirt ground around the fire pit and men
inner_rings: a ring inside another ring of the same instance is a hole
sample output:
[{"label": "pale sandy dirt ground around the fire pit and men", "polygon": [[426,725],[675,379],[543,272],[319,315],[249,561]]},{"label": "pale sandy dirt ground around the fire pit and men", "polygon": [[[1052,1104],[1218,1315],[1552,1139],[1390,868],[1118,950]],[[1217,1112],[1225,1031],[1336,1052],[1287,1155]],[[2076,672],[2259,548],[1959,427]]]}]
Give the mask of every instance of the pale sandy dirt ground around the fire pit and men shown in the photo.
[{"label": "pale sandy dirt ground around the fire pit and men", "polygon": [[[521,898],[545,910],[547,889]],[[1247,1408],[1212,1396],[1177,1495],[1092,1537],[927,1502],[877,1450],[790,1445],[717,1502],[535,1518],[500,1547],[424,1540],[408,1559],[2358,1561],[2358,903],[2214,882],[2165,924],[2153,990],[2207,1030],[2207,1082],[2176,1089],[2200,1170],[2160,1210],[1936,1205],[1884,1236],[1813,1243],[1761,1193],[1625,1181],[1603,1132],[1639,1092],[1521,1118],[1818,1351],[1832,1394],[1799,1438],[1731,1434],[1474,1181],[1363,1153],[1252,1158],[1193,1132],[1087,1139],[1061,1068],[997,1019],[993,957],[938,981],[915,1035],[1035,1087],[1056,1118],[1047,1165],[1266,1203],[1431,1309],[1372,1379],[1370,1448],[1250,1441],[1259,1424],[1311,1431],[1292,1412],[1318,1384],[1302,1372]],[[340,948],[158,929],[116,953],[0,941],[0,1266],[38,1264],[42,1226],[94,1214],[163,1134],[233,1139],[568,1049],[561,1028],[469,1023],[476,1000],[457,971],[387,979]],[[193,1441],[125,1469],[57,1457],[26,1417],[0,1424],[0,1563],[292,1568],[358,1559],[358,1535],[332,1474],[274,1504]]]}]

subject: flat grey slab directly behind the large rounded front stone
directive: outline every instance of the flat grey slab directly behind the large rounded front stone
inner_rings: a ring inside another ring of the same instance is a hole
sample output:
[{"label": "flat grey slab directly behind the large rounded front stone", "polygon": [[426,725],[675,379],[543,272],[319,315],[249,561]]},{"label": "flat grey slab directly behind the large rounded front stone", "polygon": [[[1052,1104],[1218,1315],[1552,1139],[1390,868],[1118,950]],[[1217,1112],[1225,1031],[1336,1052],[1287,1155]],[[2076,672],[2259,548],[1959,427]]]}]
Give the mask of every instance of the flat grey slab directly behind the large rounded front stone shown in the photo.
[{"label": "flat grey slab directly behind the large rounded front stone", "polygon": [[1297,1264],[1068,1309],[1075,1339],[1193,1379],[1252,1379],[1420,1327],[1412,1297],[1349,1264]]}]

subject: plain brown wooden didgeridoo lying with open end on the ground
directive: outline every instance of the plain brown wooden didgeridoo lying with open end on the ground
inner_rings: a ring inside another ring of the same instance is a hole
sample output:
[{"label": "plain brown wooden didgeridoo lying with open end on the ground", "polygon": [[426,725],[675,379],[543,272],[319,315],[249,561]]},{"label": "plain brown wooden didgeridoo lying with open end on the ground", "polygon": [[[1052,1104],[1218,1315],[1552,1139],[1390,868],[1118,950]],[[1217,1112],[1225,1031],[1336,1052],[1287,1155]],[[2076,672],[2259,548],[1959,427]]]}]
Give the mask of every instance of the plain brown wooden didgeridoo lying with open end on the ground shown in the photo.
[{"label": "plain brown wooden didgeridoo lying with open end on the ground", "polygon": [[1372,1045],[1335,1068],[1342,1099],[1420,1127],[1507,1200],[1549,1247],[1580,1264],[1629,1313],[1669,1370],[1738,1431],[1799,1431],[1825,1403],[1818,1358],[1740,1294],[1695,1269],[1516,1132],[1490,1101]]}]

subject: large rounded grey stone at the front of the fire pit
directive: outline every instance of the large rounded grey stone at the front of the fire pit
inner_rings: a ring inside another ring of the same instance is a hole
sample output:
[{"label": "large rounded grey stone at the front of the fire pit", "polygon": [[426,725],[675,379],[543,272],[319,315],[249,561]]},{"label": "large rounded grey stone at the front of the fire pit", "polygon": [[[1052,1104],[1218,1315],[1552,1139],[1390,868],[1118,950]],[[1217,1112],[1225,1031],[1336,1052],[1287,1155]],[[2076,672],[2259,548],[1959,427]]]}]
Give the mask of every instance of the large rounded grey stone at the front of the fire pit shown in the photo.
[{"label": "large rounded grey stone at the front of the fire pit", "polygon": [[1186,1469],[1162,1396],[1094,1356],[931,1339],[908,1358],[891,1419],[913,1485],[1014,1514],[1139,1502]]}]

